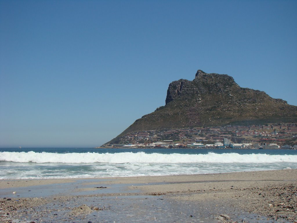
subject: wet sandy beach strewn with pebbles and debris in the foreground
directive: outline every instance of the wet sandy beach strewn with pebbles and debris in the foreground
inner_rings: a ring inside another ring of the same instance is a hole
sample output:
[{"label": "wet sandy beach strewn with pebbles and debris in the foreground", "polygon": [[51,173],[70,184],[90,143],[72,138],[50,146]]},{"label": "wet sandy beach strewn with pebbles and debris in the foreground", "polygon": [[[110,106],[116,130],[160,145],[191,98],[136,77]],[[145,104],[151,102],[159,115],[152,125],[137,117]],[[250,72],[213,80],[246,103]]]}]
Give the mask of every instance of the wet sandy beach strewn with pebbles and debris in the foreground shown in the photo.
[{"label": "wet sandy beach strewn with pebbles and debris in the foreground", "polygon": [[297,169],[1,180],[0,222],[297,222]]}]

